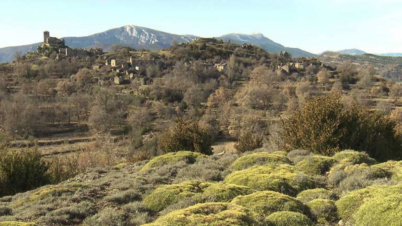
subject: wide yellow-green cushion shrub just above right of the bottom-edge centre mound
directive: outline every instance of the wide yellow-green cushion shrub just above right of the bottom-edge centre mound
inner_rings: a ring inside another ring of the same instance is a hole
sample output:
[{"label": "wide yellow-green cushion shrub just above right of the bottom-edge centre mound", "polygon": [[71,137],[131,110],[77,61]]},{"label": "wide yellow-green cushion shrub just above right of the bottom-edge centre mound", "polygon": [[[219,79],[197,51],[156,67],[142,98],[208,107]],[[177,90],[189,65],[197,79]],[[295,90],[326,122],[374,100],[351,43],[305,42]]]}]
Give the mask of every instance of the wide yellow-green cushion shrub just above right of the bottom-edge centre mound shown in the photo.
[{"label": "wide yellow-green cushion shrub just above right of the bottom-edge centre mound", "polygon": [[300,212],[311,216],[306,205],[289,195],[275,191],[258,191],[250,195],[240,195],[232,201],[233,204],[244,206],[261,216],[267,216],[279,211]]}]

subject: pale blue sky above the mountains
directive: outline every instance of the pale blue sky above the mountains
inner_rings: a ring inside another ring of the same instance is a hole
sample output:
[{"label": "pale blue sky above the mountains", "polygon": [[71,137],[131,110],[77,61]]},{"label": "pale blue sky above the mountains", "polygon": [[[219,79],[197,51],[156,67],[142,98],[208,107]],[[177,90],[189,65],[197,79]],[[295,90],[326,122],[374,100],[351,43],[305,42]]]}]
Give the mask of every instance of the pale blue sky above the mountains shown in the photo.
[{"label": "pale blue sky above the mountains", "polygon": [[124,25],[217,37],[260,32],[320,53],[402,52],[402,0],[0,0],[0,47],[86,36]]}]

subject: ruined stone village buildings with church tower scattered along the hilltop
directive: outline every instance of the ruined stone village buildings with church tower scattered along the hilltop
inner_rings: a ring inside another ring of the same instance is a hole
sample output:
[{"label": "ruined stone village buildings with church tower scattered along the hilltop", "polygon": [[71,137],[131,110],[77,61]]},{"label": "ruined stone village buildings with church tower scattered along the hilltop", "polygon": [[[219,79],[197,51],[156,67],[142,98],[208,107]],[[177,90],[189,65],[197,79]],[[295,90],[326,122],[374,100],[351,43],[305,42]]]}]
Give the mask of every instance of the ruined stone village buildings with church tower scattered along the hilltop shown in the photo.
[{"label": "ruined stone village buildings with church tower scattered along the hilltop", "polygon": [[[117,56],[113,53],[104,53],[102,48],[90,48],[90,49],[80,49],[80,48],[70,48],[66,46],[65,41],[58,39],[56,37],[50,37],[49,31],[43,32],[43,44],[38,46],[36,53],[39,55],[47,56],[50,58],[55,58],[56,61],[61,61],[63,59],[71,58],[85,58],[85,57],[97,57],[96,62],[94,62],[90,68],[92,70],[101,71],[102,73],[107,73],[109,75],[114,74],[114,76],[94,77],[98,79],[99,84],[103,84],[105,81],[112,81],[116,85],[124,85],[130,83],[139,83],[140,86],[150,85],[154,77],[146,76],[147,67],[152,67],[152,65],[157,64],[158,54],[156,52],[149,51],[129,51],[126,54],[126,59],[121,55]],[[184,47],[189,44],[181,44]],[[223,41],[218,41],[213,38],[199,38],[196,39],[190,45],[196,45],[200,50],[206,50],[207,46],[214,47],[217,49],[224,49],[225,46],[229,47],[231,45],[230,41],[224,43]],[[254,46],[244,43],[240,45],[244,52],[247,52],[250,56],[254,54]],[[258,47],[256,47],[258,48]],[[261,51],[258,48],[257,51]],[[162,54],[167,54],[166,51],[160,51]],[[53,55],[53,57],[51,56]],[[166,57],[166,55],[163,55]],[[317,58],[300,57],[299,59],[291,59],[289,53],[282,51],[278,54],[278,57],[282,61],[275,67],[275,73],[278,76],[289,76],[294,73],[304,73],[306,69],[310,67],[315,68],[325,68],[330,71],[335,69],[324,65],[324,63],[318,61]],[[191,65],[194,63],[202,65],[205,68],[215,68],[219,73],[225,74],[228,69],[228,59],[220,61],[211,60],[189,60],[185,62],[185,65]],[[286,61],[286,62],[285,62]],[[266,67],[271,67],[271,59],[266,59],[263,62]],[[310,71],[311,75],[314,75],[313,71]]]}]

